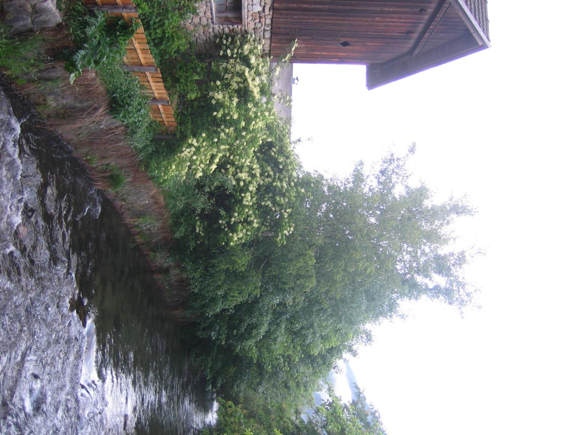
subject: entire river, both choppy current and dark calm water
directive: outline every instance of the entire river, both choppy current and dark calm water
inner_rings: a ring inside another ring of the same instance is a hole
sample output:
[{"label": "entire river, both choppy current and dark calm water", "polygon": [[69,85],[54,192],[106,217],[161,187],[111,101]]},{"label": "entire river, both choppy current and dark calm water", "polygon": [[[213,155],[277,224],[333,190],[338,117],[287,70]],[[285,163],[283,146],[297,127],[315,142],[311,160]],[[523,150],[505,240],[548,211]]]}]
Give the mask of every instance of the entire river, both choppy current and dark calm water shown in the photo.
[{"label": "entire river, both choppy current and dark calm water", "polygon": [[0,433],[196,433],[195,374],[119,213],[0,78]]}]

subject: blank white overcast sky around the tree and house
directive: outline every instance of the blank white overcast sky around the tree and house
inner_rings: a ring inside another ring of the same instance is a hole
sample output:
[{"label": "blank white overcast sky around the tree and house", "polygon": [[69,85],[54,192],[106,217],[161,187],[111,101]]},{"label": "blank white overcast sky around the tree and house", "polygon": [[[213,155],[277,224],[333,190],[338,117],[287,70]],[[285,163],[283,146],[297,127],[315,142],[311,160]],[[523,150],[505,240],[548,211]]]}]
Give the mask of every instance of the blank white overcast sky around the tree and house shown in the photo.
[{"label": "blank white overcast sky around the tree and house", "polygon": [[352,361],[390,435],[581,434],[580,3],[491,0],[492,49],[371,91],[364,67],[295,64],[307,169],[417,142],[415,175],[479,209],[457,231],[487,251],[482,309],[406,305]]}]

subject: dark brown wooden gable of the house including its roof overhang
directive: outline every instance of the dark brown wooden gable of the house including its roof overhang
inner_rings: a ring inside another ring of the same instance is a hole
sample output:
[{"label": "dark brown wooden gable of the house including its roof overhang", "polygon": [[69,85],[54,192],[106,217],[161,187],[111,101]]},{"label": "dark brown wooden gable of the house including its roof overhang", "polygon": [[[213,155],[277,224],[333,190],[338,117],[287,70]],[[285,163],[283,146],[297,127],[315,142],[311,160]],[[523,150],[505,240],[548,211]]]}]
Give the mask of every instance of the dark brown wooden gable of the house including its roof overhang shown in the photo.
[{"label": "dark brown wooden gable of the house including its roof overhang", "polygon": [[[376,88],[490,46],[487,0],[275,0],[271,55],[367,65]],[[345,44],[347,43],[347,44]]]}]

